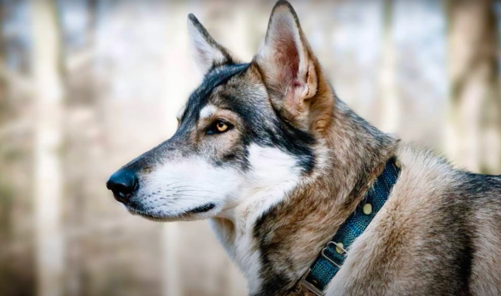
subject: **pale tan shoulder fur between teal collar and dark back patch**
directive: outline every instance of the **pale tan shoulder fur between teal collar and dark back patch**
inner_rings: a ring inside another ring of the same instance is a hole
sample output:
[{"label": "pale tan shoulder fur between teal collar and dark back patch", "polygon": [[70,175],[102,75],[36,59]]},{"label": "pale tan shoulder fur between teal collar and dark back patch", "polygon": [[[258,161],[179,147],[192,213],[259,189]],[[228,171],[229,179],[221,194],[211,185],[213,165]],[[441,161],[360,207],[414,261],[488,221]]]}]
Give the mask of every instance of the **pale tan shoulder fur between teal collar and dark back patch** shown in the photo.
[{"label": "pale tan shoulder fur between teal collar and dark back patch", "polygon": [[[328,294],[367,290],[412,294],[423,288],[421,282],[427,284],[420,278],[432,276],[428,265],[443,255],[428,244],[426,230],[433,228],[433,215],[439,214],[434,208],[437,195],[454,181],[454,173],[420,150],[401,146],[396,155],[404,167],[399,181],[383,209],[353,244],[346,267],[331,284],[336,290]],[[361,276],[366,280],[360,280]]]}]

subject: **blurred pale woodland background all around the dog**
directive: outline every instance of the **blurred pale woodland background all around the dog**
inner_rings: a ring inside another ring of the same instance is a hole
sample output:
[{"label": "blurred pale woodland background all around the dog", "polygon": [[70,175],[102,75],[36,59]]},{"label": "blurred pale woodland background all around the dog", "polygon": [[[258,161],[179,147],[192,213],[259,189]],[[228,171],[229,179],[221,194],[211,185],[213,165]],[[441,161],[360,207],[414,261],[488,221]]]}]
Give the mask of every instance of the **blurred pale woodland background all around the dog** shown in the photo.
[{"label": "blurred pale woodland background all around the dog", "polygon": [[[250,60],[275,1],[0,0],[0,296],[245,295],[206,222],[106,190],[199,82],[193,12]],[[501,173],[494,0],[292,0],[337,91],[379,128]]]}]

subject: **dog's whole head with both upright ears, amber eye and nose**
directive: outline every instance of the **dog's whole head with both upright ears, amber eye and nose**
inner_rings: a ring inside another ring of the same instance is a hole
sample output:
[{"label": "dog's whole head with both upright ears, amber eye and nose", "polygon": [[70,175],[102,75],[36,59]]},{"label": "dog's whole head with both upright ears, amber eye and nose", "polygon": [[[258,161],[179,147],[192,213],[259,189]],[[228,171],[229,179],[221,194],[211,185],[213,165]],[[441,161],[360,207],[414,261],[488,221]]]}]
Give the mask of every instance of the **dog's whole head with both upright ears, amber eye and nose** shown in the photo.
[{"label": "dog's whole head with both upright ears, amber eye and nose", "polygon": [[315,147],[332,118],[332,90],[287,1],[275,5],[250,63],[192,14],[188,30],[204,78],[177,131],[107,182],[129,211],[152,219],[227,216],[254,196],[283,195],[318,165]]}]

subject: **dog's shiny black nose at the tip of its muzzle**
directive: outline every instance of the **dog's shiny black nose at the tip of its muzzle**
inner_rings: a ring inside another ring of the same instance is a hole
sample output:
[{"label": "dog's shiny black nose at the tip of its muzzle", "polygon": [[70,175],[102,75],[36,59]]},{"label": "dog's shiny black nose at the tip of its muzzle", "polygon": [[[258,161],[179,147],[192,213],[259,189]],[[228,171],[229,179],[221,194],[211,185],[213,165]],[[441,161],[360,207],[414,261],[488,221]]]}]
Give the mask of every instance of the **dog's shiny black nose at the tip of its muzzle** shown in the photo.
[{"label": "dog's shiny black nose at the tip of its muzzle", "polygon": [[127,203],[134,191],[138,188],[136,174],[128,169],[119,169],[111,175],[106,182],[106,187],[113,191],[115,199]]}]

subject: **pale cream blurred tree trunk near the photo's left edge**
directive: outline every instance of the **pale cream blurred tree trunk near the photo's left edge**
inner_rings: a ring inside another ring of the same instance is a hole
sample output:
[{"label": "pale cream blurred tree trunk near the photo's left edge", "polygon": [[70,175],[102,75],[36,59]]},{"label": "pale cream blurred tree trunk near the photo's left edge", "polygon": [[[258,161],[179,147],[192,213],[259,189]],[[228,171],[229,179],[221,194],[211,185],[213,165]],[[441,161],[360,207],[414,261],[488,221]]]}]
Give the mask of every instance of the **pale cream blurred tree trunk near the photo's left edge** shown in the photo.
[{"label": "pale cream blurred tree trunk near the photo's left edge", "polygon": [[62,295],[64,238],[62,215],[60,30],[55,0],[31,0],[35,82],[35,227],[38,295]]}]

